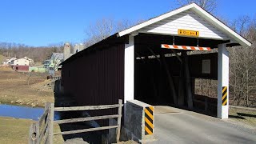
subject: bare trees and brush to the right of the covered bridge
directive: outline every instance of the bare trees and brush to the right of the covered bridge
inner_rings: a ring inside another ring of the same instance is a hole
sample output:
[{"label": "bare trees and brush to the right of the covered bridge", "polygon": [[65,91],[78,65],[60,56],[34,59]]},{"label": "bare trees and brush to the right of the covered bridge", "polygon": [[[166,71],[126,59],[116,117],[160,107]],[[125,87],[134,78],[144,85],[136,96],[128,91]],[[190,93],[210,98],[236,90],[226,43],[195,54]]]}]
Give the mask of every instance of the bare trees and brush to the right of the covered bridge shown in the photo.
[{"label": "bare trees and brush to the right of the covered bridge", "polygon": [[230,90],[234,104],[252,106],[256,79],[256,20],[243,16],[232,22],[232,28],[252,42],[250,47],[230,48]]}]

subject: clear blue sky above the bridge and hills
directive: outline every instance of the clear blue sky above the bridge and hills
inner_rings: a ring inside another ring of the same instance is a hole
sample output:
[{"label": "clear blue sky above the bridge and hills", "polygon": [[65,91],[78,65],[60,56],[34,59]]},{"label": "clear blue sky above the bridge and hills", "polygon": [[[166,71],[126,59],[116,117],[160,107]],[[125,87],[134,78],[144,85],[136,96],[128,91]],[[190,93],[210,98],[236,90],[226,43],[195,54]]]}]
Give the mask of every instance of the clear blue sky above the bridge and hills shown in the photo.
[{"label": "clear blue sky above the bridge and hills", "polygon": [[[256,18],[255,0],[217,0],[214,15],[230,21]],[[84,42],[88,26],[102,18],[149,19],[180,5],[176,0],[1,0],[0,42],[49,46]]]}]

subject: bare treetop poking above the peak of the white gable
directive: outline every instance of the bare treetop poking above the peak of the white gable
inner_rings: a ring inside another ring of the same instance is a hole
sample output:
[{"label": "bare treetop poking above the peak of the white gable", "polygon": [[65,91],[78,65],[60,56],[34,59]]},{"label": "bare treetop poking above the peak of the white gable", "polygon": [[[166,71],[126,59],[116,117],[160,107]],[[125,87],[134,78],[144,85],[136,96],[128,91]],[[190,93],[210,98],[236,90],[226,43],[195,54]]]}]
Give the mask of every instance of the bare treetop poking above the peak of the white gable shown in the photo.
[{"label": "bare treetop poking above the peak of the white gable", "polygon": [[196,3],[198,6],[201,6],[203,9],[207,10],[210,13],[214,13],[217,8],[216,0],[177,0],[181,6],[185,6],[190,3]]}]

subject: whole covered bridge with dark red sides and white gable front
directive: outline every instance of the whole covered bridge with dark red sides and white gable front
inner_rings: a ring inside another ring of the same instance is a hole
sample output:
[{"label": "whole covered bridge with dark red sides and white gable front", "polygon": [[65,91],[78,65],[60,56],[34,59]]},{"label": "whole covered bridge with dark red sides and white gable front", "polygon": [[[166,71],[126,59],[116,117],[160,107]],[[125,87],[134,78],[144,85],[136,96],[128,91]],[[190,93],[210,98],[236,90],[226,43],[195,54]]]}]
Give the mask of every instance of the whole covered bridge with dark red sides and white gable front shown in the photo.
[{"label": "whole covered bridge with dark red sides and white gable front", "polygon": [[[62,86],[81,105],[138,99],[193,109],[195,78],[218,80],[211,108],[228,118],[229,52],[251,43],[196,4],[113,34],[62,62]],[[205,54],[191,54],[206,51]],[[218,51],[218,52],[217,52]],[[207,99],[207,96],[204,96]],[[207,109],[207,110],[208,110]]]}]

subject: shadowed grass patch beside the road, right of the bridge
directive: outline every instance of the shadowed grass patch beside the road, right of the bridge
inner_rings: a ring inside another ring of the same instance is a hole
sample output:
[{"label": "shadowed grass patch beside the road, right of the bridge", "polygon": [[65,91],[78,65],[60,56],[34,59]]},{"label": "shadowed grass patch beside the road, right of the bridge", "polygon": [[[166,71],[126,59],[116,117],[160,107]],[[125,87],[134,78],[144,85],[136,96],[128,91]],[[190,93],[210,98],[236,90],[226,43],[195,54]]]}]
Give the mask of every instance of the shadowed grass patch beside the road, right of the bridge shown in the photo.
[{"label": "shadowed grass patch beside the road, right of the bridge", "polygon": [[242,108],[230,108],[229,118],[234,121],[243,122],[246,125],[256,128],[256,110],[246,110]]}]

